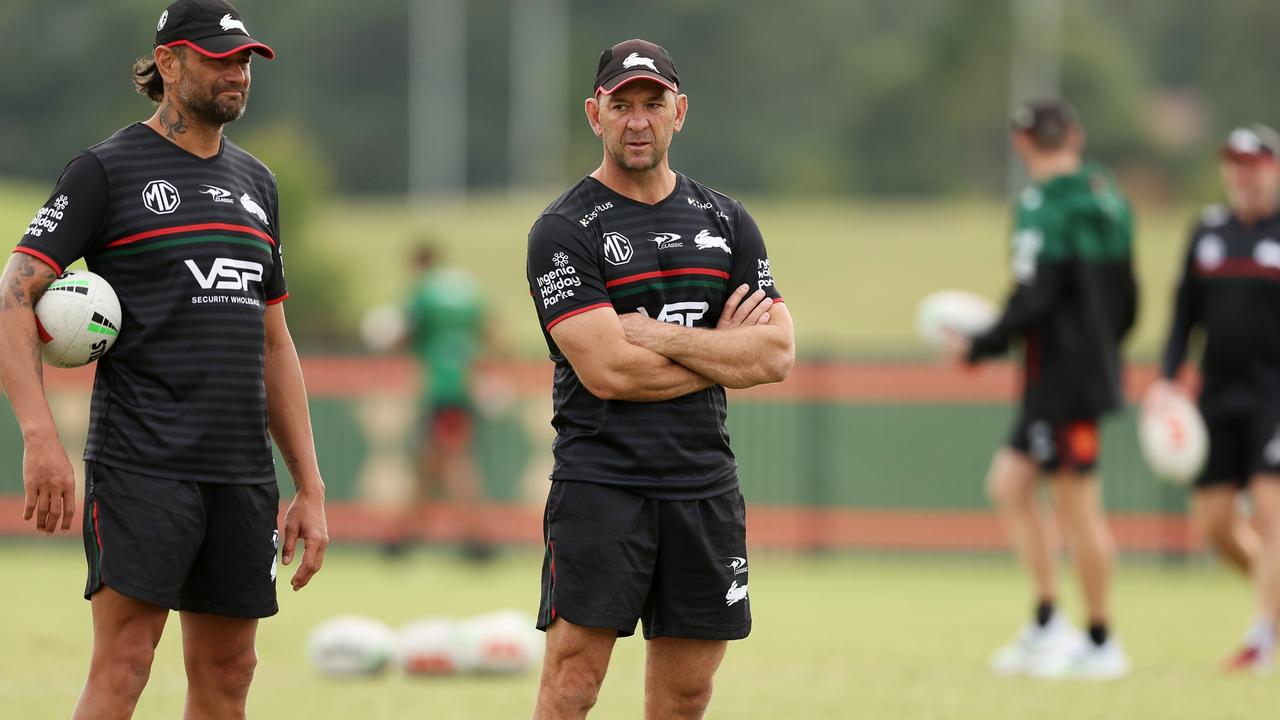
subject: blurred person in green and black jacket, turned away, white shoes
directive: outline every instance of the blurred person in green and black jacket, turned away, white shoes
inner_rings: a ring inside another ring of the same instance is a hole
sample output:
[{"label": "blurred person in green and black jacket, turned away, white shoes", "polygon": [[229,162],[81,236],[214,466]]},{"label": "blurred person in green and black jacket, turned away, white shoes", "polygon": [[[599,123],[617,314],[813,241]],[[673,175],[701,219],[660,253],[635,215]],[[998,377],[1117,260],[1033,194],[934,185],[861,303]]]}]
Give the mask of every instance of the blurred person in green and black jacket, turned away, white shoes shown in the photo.
[{"label": "blurred person in green and black jacket, turned away, white shoes", "polygon": [[[1084,129],[1062,101],[1024,105],[1012,118],[1012,146],[1033,186],[1015,204],[1012,270],[1016,286],[991,331],[956,338],[968,363],[1004,355],[1014,340],[1024,354],[1019,418],[996,454],[988,492],[1030,571],[1032,621],[992,657],[1002,674],[1107,679],[1129,659],[1108,625],[1114,543],[1102,510],[1096,465],[1098,418],[1120,407],[1120,343],[1133,327],[1137,286],[1133,220],[1110,176],[1082,160]],[[1036,498],[1050,479],[1088,614],[1088,637],[1057,609],[1051,537]]]}]

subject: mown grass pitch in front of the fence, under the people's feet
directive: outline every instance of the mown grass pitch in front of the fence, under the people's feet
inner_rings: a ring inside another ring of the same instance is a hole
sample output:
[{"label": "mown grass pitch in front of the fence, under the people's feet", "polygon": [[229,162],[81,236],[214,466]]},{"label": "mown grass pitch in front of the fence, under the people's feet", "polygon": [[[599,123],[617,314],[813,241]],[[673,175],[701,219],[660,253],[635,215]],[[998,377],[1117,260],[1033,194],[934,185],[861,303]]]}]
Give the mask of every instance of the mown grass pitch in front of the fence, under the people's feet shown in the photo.
[{"label": "mown grass pitch in front of the fence, under the people's feet", "polygon": [[[262,624],[250,716],[527,717],[534,674],[334,682],[308,667],[303,648],[310,628],[338,614],[398,624],[499,607],[532,612],[538,562],[534,552],[516,552],[475,569],[421,552],[389,564],[367,548],[335,548],[312,587],[282,593],[280,615]],[[88,605],[78,597],[82,568],[74,543],[0,544],[0,577],[9,585],[0,594],[0,716],[69,715],[90,650]],[[712,719],[1252,720],[1275,707],[1280,679],[1219,671],[1249,618],[1249,593],[1199,562],[1121,565],[1116,615],[1135,673],[1105,685],[987,671],[988,652],[1027,610],[1023,579],[1002,557],[759,555],[751,570],[755,632],[731,646]],[[173,619],[140,719],[180,715],[177,630]],[[640,639],[620,641],[593,717],[640,717],[643,650]]]}]

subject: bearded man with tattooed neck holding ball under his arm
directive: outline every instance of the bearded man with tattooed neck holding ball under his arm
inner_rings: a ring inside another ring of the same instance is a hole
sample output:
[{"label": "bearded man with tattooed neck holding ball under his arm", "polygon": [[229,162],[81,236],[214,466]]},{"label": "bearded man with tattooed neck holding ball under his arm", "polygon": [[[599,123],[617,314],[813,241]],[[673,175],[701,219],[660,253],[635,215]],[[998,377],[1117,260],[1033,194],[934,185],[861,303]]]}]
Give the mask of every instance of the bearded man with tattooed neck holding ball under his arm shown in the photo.
[{"label": "bearded man with tattooed neck holding ball under his arm", "polygon": [[120,299],[97,361],[86,460],[84,597],[93,655],[77,719],[129,717],[169,610],[180,611],[186,717],[244,717],[257,620],[274,615],[279,491],[270,433],[297,486],[284,562],[293,588],[328,543],[324,483],[280,302],[275,178],[223,137],[248,101],[250,37],[220,0],[178,0],[134,65],[155,115],[81,152],[0,282],[0,379],[23,430],[27,512],[70,527],[74,477],[42,392],[32,307],[84,258]]}]

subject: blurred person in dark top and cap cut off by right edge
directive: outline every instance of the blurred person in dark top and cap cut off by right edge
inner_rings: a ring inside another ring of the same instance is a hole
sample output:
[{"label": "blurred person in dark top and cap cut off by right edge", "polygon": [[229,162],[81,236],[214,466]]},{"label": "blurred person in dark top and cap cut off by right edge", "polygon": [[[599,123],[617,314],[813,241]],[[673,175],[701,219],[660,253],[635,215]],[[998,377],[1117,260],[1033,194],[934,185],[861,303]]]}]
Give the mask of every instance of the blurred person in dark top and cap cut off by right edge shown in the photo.
[{"label": "blurred person in dark top and cap cut off by right edge", "polygon": [[[1228,206],[1206,209],[1192,231],[1172,328],[1152,402],[1171,392],[1192,331],[1204,334],[1199,409],[1208,462],[1192,519],[1231,566],[1252,574],[1257,618],[1233,670],[1270,670],[1280,615],[1280,137],[1266,126],[1231,132],[1222,147]],[[1257,530],[1236,512],[1249,491]],[[1261,537],[1260,537],[1261,532]]]}]

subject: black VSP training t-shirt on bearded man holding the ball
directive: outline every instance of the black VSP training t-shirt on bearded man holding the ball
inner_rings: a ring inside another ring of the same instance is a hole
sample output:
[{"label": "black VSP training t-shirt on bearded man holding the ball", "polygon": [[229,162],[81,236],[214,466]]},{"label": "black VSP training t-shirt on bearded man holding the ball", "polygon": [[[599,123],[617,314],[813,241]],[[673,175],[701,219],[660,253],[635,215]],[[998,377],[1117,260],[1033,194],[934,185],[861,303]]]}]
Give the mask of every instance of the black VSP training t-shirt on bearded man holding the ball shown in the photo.
[{"label": "black VSP training t-shirt on bearded man holding the ball", "polygon": [[137,123],[77,155],[15,252],[84,258],[123,328],[97,361],[86,460],[177,480],[275,479],[264,314],[287,297],[275,178]]}]

